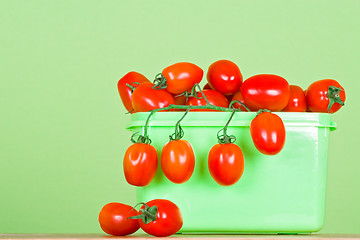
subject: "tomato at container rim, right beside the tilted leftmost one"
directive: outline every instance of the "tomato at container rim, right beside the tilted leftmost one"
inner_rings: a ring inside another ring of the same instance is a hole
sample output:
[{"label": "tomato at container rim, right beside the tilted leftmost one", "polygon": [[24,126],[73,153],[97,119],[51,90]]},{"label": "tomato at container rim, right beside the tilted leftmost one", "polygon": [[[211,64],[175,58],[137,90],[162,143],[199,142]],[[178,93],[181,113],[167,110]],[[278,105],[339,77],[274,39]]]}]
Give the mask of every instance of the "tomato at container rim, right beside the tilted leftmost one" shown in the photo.
[{"label": "tomato at container rim, right beside the tilted leftmost one", "polygon": [[148,112],[175,104],[174,97],[165,89],[153,89],[153,83],[142,83],[131,95],[136,112]]}]

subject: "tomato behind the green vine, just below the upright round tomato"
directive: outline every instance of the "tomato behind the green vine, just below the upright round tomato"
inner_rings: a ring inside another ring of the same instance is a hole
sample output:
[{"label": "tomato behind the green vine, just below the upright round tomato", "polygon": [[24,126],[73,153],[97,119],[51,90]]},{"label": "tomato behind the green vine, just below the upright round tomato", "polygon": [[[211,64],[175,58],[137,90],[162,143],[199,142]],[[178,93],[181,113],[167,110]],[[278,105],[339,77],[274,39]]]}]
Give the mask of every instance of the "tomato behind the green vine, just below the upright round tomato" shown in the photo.
[{"label": "tomato behind the green vine, just below the upright round tomato", "polygon": [[[224,95],[222,95],[218,91],[203,90],[203,93],[204,93],[205,97],[208,99],[210,104],[219,106],[219,107],[228,107],[229,106],[229,101],[226,99],[226,97]],[[189,106],[204,106],[204,105],[206,105],[207,104],[206,100],[202,96],[203,95],[201,94],[201,92],[198,92],[197,97],[200,99],[197,99],[196,97],[189,97],[187,105],[189,105]],[[193,109],[191,111],[213,111],[213,110]]]}]

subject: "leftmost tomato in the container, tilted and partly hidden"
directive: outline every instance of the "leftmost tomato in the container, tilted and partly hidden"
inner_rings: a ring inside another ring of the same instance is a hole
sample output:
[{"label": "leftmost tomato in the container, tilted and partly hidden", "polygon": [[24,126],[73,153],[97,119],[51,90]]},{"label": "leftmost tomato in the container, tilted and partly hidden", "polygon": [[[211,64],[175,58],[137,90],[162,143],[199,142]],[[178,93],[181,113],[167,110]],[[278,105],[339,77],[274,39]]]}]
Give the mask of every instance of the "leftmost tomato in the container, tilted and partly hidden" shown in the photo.
[{"label": "leftmost tomato in the container, tilted and partly hidden", "polygon": [[130,84],[133,87],[137,87],[137,84],[133,84],[133,82],[137,82],[139,84],[143,82],[150,82],[144,75],[138,72],[129,72],[125,76],[123,76],[117,84],[120,98],[128,112],[134,113],[133,106],[131,103],[131,94],[132,90],[126,84]]}]

